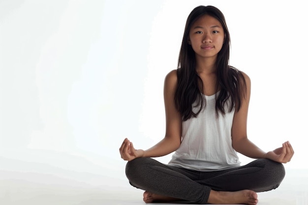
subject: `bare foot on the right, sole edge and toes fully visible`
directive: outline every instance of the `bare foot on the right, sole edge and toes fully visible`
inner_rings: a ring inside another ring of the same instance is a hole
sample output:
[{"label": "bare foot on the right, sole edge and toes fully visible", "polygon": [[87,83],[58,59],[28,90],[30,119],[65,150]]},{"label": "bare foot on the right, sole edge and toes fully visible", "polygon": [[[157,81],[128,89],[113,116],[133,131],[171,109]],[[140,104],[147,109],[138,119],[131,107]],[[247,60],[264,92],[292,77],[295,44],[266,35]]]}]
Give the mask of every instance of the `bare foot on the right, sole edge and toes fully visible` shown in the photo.
[{"label": "bare foot on the right, sole edge and toes fully visible", "polygon": [[241,190],[236,192],[211,190],[208,203],[256,205],[258,203],[258,195],[251,190]]}]

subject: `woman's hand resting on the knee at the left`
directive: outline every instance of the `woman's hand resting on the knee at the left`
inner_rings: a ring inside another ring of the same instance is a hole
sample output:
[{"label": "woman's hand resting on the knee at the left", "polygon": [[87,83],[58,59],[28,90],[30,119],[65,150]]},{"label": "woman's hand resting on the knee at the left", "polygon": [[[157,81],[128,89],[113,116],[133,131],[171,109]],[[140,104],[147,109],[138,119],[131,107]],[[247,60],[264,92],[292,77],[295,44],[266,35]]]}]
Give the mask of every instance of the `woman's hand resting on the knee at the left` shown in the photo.
[{"label": "woman's hand resting on the knee at the left", "polygon": [[120,147],[120,154],[123,160],[131,161],[138,157],[142,157],[144,154],[144,150],[135,149],[133,144],[129,142],[127,138],[125,138],[125,140],[122,143],[122,146]]}]

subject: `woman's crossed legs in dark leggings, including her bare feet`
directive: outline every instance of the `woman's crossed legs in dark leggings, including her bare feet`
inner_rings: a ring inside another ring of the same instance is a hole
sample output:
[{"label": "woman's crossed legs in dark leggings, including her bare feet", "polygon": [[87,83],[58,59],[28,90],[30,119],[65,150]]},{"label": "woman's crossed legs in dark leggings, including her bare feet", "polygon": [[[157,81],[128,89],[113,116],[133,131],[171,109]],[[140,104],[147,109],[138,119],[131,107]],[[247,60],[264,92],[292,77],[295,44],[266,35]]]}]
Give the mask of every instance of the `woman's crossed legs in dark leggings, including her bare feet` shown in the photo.
[{"label": "woman's crossed legs in dark leggings, including her bare feet", "polygon": [[[273,167],[277,167],[274,172],[278,170],[282,173],[280,179],[270,180],[270,184],[264,183],[268,181],[266,176],[275,178],[272,177],[273,173],[268,172],[273,171]],[[200,178],[200,173],[206,176]],[[264,173],[268,174],[264,176]],[[197,172],[165,165],[151,158],[138,158],[127,163],[126,176],[133,186],[146,190],[143,196],[146,203],[190,201],[256,205],[258,199],[255,191],[276,188],[284,176],[284,169],[279,163],[262,159],[226,171]],[[260,178],[265,180],[258,181]]]}]

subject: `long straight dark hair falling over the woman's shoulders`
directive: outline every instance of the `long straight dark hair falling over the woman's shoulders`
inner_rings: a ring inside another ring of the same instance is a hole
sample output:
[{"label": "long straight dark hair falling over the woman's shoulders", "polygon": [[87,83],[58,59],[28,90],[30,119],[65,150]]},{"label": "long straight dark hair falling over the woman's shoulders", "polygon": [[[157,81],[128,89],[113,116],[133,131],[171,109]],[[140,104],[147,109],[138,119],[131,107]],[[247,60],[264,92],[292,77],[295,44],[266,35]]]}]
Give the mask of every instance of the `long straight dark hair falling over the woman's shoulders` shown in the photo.
[{"label": "long straight dark hair falling over the woman's shoulders", "polygon": [[[216,116],[218,116],[218,112],[225,115],[226,112],[231,112],[233,109],[238,111],[241,108],[242,97],[246,97],[246,82],[243,74],[228,64],[230,34],[224,15],[214,6],[198,6],[191,11],[187,18],[177,69],[178,85],[174,102],[184,121],[190,117],[197,117],[206,106],[203,83],[195,69],[195,53],[191,45],[188,44],[189,30],[192,24],[204,15],[216,18],[221,23],[225,34],[224,43],[216,59],[216,92],[220,88],[219,94],[216,95]],[[228,103],[229,100],[231,103]],[[200,109],[194,113],[192,104],[196,101]],[[225,105],[229,106],[228,110],[225,110]]]}]

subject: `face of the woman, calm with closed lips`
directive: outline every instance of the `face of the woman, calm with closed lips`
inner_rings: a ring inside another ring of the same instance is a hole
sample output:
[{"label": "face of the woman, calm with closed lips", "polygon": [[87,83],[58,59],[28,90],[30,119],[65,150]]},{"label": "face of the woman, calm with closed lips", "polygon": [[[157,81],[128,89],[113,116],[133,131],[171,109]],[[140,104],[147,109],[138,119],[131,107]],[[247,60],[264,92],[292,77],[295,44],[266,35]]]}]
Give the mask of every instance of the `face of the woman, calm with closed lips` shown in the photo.
[{"label": "face of the woman, calm with closed lips", "polygon": [[200,17],[189,30],[188,44],[196,58],[215,58],[222,48],[224,31],[220,22],[209,15]]}]

